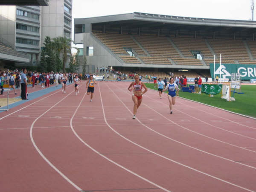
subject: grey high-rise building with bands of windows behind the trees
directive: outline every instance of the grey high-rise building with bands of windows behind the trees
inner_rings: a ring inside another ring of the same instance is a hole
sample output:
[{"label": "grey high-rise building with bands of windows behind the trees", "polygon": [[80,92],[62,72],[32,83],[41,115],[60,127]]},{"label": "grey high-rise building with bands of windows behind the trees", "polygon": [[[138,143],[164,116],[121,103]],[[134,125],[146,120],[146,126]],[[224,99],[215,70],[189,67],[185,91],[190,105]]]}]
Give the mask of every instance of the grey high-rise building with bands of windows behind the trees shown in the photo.
[{"label": "grey high-rise building with bands of windows behind the trees", "polygon": [[49,6],[0,6],[0,38],[16,51],[40,60],[44,38],[71,38],[72,0],[49,0]]}]

